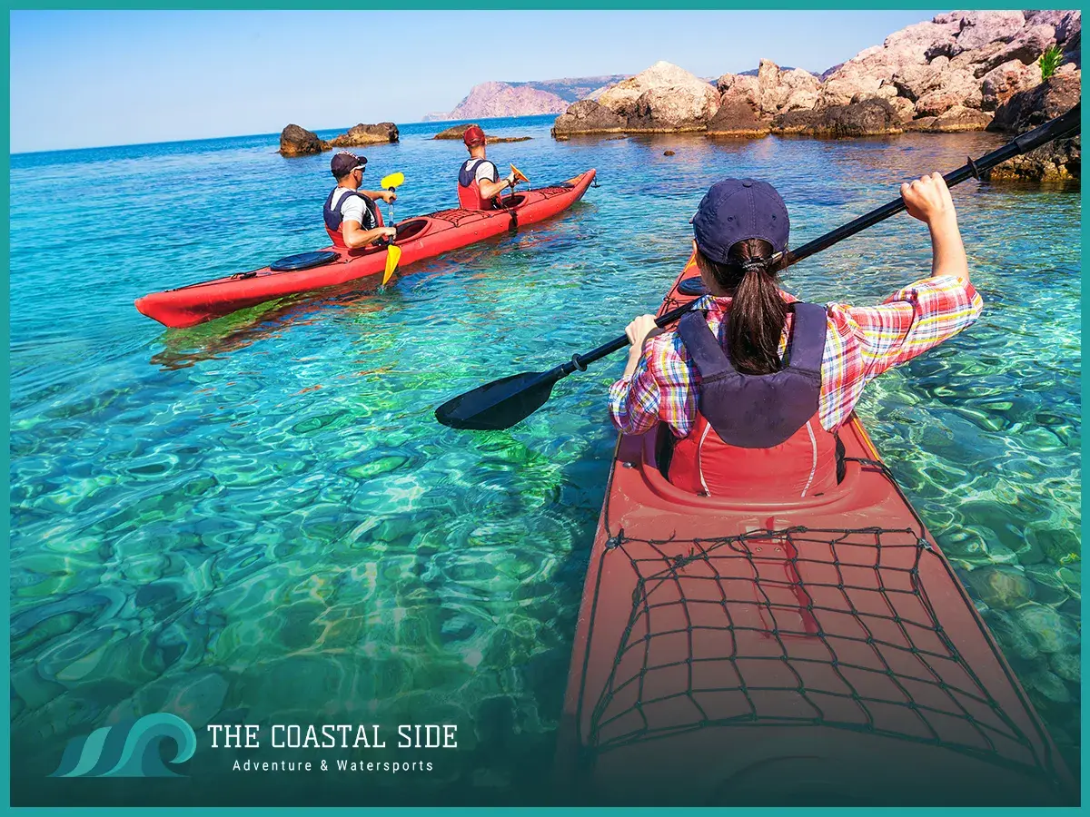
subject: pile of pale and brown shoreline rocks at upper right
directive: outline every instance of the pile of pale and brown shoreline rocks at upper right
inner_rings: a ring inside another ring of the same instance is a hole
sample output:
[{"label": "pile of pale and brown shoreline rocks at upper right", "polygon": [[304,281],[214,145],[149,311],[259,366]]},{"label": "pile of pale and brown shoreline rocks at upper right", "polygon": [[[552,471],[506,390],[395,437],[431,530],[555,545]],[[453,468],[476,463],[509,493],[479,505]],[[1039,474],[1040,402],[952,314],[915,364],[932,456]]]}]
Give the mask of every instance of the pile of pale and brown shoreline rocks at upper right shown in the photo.
[{"label": "pile of pale and brown shoreline rocks at upper right", "polygon": [[[1040,60],[1049,49],[1062,57],[1043,77]],[[569,107],[553,136],[1020,133],[1063,113],[1080,94],[1081,12],[950,12],[821,75],[762,60],[755,75],[724,74],[713,85],[657,62]],[[996,168],[992,178],[1078,178],[1079,144],[1078,137],[1054,143]]]}]

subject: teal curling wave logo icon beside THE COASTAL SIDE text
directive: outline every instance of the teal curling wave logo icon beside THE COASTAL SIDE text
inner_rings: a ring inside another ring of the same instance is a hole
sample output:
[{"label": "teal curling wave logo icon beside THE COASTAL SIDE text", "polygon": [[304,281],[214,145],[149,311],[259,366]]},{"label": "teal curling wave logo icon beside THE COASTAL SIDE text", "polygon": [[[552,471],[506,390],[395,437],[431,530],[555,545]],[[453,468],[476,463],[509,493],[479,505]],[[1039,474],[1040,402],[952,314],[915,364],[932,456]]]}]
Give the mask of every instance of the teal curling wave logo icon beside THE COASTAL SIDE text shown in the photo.
[{"label": "teal curling wave logo icon beside THE COASTAL SIDE text", "polygon": [[51,778],[180,778],[162,765],[159,743],[173,741],[177,748],[170,764],[193,757],[197,736],[177,715],[156,712],[138,720],[96,729],[74,737],[64,747],[60,766]]}]

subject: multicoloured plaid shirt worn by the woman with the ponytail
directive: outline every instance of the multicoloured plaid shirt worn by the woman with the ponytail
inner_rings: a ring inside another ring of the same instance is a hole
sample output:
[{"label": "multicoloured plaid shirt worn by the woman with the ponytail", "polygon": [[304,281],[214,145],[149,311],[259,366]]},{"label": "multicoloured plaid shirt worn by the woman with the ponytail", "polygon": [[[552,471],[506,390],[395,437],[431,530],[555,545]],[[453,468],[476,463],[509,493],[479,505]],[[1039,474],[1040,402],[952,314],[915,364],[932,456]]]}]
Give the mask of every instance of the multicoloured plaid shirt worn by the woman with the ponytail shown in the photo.
[{"label": "multicoloured plaid shirt worn by the woman with the ponytail", "polygon": [[[788,303],[799,298],[780,293]],[[707,325],[718,337],[729,297],[705,295],[695,308],[707,310]],[[821,367],[819,416],[826,431],[835,431],[851,415],[863,386],[883,371],[923,354],[971,325],[983,301],[971,283],[943,276],[925,278],[895,292],[880,306],[826,306],[828,327]],[[779,339],[787,349],[794,313]],[[697,419],[700,373],[676,331],[644,344],[643,356],[630,377],[609,389],[609,416],[625,434],[643,434],[658,422],[685,437]]]}]

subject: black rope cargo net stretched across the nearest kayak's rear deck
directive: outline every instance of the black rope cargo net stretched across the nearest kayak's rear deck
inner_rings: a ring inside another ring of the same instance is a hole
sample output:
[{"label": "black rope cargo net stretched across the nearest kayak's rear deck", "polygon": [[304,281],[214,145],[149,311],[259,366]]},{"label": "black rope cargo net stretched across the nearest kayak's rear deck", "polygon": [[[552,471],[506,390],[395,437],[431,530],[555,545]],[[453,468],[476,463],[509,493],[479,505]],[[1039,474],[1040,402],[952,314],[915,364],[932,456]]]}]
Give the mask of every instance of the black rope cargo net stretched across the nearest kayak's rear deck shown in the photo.
[{"label": "black rope cargo net stretched across the nearest kayak's rear deck", "polygon": [[[896,486],[884,463],[847,460]],[[921,564],[935,560],[958,580],[912,514],[910,528],[794,526],[691,540],[630,537],[607,514],[603,563],[627,557],[634,587],[596,700],[585,688],[590,650],[603,648],[591,615],[577,717],[583,763],[711,727],[797,724],[941,746],[1063,789],[1040,724],[1034,739],[1026,734],[944,630]],[[595,611],[601,583],[600,570]],[[994,654],[986,631],[983,642]],[[1002,659],[995,667],[1029,708]]]}]

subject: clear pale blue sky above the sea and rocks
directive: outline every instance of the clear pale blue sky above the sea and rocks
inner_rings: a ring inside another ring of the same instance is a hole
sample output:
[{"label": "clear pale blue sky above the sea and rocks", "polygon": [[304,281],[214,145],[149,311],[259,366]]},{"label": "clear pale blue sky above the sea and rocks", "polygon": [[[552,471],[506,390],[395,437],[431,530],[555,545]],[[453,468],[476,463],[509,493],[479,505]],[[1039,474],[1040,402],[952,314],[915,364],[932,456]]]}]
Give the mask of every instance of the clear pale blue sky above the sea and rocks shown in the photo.
[{"label": "clear pale blue sky above the sea and rocks", "polygon": [[[480,82],[812,71],[937,11],[13,11],[11,150],[417,122]],[[472,56],[474,37],[495,44]]]}]

